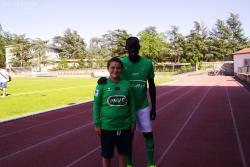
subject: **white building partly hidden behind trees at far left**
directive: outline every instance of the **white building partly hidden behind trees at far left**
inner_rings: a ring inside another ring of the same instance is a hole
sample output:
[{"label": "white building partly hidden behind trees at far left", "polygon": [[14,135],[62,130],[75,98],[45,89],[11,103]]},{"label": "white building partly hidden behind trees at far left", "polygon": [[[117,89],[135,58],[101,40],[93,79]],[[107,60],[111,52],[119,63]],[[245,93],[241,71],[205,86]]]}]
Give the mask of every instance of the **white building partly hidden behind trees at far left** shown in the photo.
[{"label": "white building partly hidden behind trees at far left", "polygon": [[[15,57],[15,55],[12,53],[12,50],[15,46],[14,45],[9,45],[5,47],[5,53],[6,53],[6,66],[7,67],[12,67],[12,60]],[[59,57],[59,51],[60,49],[56,46],[53,45],[46,45],[45,46],[45,57],[47,58],[48,62],[46,65],[41,64],[41,70],[46,71],[48,69],[51,69],[55,67],[58,62],[60,61]],[[34,51],[31,49],[30,53],[32,54]],[[36,61],[33,59],[33,61]],[[33,66],[32,67],[34,71],[39,71],[38,66]]]}]

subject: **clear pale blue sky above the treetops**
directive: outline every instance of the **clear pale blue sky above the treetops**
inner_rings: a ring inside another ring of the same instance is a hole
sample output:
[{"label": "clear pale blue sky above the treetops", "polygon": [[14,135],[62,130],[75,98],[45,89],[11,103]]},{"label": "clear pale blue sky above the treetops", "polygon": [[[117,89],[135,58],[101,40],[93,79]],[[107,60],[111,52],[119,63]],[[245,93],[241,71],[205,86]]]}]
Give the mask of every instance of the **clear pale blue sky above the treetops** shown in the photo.
[{"label": "clear pale blue sky above the treetops", "polygon": [[149,26],[167,32],[174,25],[187,35],[194,21],[211,30],[234,13],[250,37],[249,7],[250,0],[0,0],[0,24],[4,31],[50,41],[70,28],[89,43],[110,30],[136,36]]}]

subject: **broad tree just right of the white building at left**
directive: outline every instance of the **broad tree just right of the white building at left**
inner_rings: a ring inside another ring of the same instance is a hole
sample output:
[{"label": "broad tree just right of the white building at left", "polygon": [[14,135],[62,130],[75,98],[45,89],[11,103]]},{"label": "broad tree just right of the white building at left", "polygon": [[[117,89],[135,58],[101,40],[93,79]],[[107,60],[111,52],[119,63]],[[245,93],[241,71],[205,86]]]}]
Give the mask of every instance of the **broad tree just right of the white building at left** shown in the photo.
[{"label": "broad tree just right of the white building at left", "polygon": [[54,37],[53,43],[61,48],[59,53],[61,58],[81,59],[86,55],[86,44],[77,31],[67,29],[64,36]]}]

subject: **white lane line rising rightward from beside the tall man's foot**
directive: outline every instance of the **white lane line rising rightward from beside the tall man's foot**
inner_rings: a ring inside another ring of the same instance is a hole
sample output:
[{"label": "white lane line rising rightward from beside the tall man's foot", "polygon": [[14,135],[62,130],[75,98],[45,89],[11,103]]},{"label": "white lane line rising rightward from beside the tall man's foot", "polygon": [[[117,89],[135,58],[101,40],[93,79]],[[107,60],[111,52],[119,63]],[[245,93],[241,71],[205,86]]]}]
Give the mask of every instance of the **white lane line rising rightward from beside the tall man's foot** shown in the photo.
[{"label": "white lane line rising rightward from beside the tall man's foot", "polygon": [[180,134],[183,132],[184,128],[187,126],[187,124],[189,123],[189,121],[191,120],[192,116],[194,115],[194,113],[197,111],[197,109],[199,108],[200,104],[203,102],[203,100],[207,97],[208,92],[210,91],[211,86],[209,87],[209,89],[207,90],[207,92],[203,95],[203,97],[201,98],[201,100],[199,101],[199,103],[195,106],[194,110],[192,111],[192,113],[189,115],[189,117],[187,118],[187,120],[184,122],[184,124],[182,125],[182,127],[179,129],[179,131],[177,132],[177,134],[175,135],[175,137],[172,139],[172,141],[170,142],[170,144],[168,145],[168,147],[165,149],[165,151],[162,153],[162,155],[160,156],[160,158],[157,160],[157,165],[160,165],[160,163],[162,162],[163,158],[166,156],[166,154],[169,152],[169,150],[172,148],[172,146],[174,145],[174,143],[176,142],[177,138],[180,136]]}]

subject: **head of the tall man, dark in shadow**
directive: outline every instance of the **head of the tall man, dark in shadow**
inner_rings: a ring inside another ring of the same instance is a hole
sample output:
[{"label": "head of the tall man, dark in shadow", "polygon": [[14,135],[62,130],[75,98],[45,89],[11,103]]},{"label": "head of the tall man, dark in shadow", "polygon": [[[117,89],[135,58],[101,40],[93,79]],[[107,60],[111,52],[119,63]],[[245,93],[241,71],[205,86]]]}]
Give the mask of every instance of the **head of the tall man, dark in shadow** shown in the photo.
[{"label": "head of the tall man, dark in shadow", "polygon": [[128,51],[129,60],[132,62],[137,62],[140,58],[140,42],[136,37],[129,37],[126,40],[126,49]]}]

